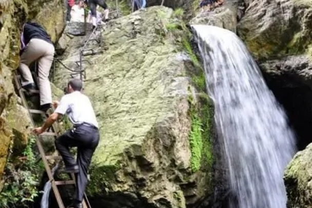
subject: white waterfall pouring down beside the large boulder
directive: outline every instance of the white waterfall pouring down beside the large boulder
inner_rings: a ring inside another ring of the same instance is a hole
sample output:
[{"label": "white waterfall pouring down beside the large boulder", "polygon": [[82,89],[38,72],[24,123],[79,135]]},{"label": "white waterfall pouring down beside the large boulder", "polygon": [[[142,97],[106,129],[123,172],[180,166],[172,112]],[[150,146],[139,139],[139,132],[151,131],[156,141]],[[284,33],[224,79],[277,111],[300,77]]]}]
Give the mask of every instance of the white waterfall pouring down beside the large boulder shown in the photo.
[{"label": "white waterfall pouring down beside the large boulder", "polygon": [[283,109],[235,33],[204,25],[192,29],[236,197],[230,208],[285,208],[283,171],[295,153],[295,136]]}]

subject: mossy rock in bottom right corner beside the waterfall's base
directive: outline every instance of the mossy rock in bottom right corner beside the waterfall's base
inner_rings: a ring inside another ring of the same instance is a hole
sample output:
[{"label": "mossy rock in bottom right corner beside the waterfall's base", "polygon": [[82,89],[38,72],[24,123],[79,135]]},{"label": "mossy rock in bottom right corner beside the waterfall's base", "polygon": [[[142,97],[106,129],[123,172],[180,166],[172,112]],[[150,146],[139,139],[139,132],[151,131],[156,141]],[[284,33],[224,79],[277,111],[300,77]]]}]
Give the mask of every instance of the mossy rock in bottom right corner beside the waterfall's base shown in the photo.
[{"label": "mossy rock in bottom right corner beside the waterfall's base", "polygon": [[310,208],[311,202],[311,177],[312,177],[312,144],[305,150],[298,152],[287,165],[284,181],[287,190],[288,208]]}]

